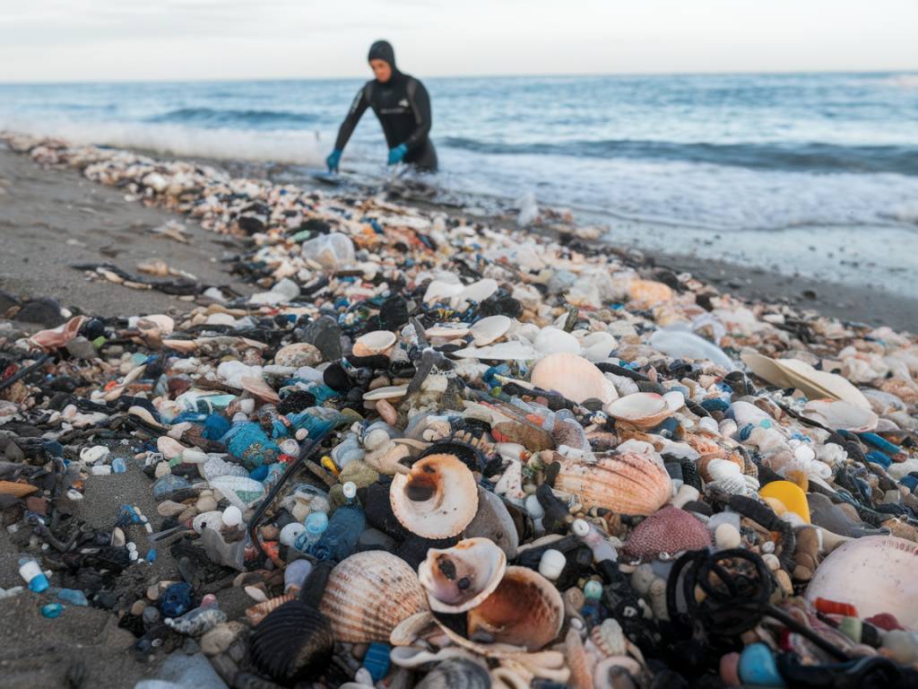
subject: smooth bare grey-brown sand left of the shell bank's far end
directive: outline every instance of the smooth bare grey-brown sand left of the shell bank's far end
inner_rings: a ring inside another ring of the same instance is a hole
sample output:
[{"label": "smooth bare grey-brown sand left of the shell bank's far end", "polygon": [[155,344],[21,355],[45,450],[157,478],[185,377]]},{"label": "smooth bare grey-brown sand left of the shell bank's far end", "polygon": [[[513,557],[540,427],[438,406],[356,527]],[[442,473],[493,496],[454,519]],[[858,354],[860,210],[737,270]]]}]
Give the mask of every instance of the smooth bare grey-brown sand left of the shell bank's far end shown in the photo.
[{"label": "smooth bare grey-brown sand left of the shell bank's far end", "polygon": [[194,303],[156,290],[91,282],[71,267],[111,263],[140,275],[138,263],[162,258],[203,284],[252,294],[252,287],[235,281],[221,264],[226,254],[239,253],[236,240],[196,222],[185,223],[190,243],[150,232],[168,220],[184,219],[127,201],[123,191],[90,182],[75,170],[43,169],[0,144],[0,289],[20,298],[52,297],[102,316],[189,311]]}]

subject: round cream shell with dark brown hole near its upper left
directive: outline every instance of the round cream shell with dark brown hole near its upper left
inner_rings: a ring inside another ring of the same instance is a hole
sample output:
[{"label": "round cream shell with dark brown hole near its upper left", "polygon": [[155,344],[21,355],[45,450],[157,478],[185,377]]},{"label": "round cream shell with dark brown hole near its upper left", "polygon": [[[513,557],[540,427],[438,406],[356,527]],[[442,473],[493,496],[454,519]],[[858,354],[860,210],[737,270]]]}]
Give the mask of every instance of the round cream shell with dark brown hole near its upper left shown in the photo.
[{"label": "round cream shell with dark brown hole near its upper left", "polygon": [[454,455],[430,455],[397,474],[389,502],[398,522],[423,538],[462,533],[478,511],[478,486],[472,471]]}]

